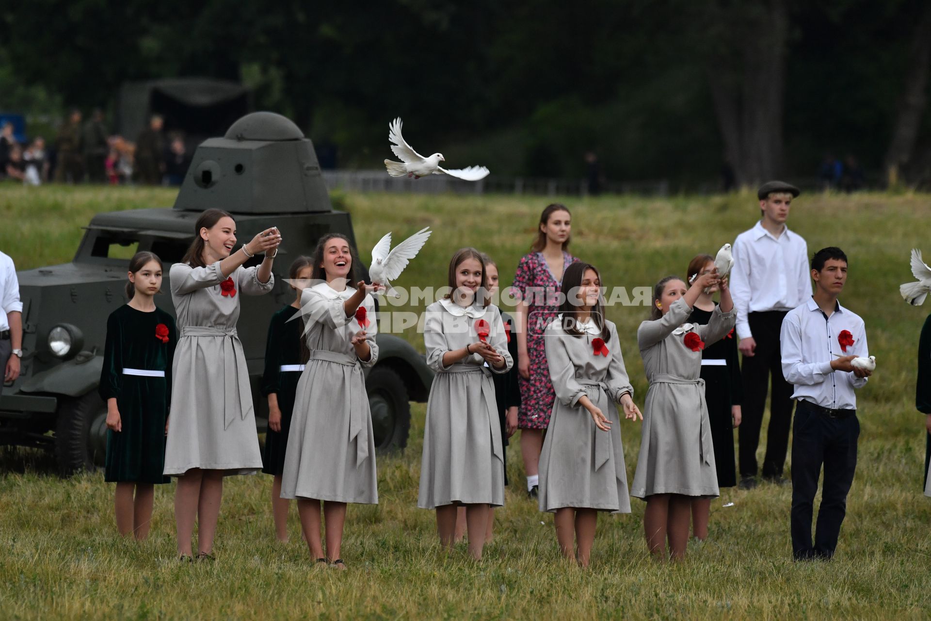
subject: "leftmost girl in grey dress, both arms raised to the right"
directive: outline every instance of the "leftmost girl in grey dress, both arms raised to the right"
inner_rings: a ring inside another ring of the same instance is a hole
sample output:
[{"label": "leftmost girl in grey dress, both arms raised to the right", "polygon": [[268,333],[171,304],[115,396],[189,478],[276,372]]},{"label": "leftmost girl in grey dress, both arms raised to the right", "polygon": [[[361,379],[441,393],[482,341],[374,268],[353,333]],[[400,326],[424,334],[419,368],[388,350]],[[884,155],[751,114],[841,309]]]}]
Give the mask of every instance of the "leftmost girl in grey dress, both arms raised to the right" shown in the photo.
[{"label": "leftmost girl in grey dress, both arms raised to the right", "polygon": [[[181,338],[171,373],[165,474],[178,477],[175,521],[181,560],[191,560],[196,519],[197,558],[212,559],[223,477],[262,468],[249,371],[236,336],[238,294],[272,290],[272,260],[281,243],[277,229],[270,228],[231,252],[236,222],[220,209],[200,214],[195,235],[182,262],[169,272]],[[242,267],[259,252],[265,252],[261,265]]]}]

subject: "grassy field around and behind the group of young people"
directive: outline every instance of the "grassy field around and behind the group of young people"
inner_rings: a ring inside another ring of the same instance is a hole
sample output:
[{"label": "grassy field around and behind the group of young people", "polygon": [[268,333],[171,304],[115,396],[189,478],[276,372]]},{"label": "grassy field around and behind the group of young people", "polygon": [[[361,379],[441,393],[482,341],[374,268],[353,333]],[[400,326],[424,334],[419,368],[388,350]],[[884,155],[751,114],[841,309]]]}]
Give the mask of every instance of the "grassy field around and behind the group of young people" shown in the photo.
[{"label": "grassy field around and behind the group of young people", "polygon": [[[168,190],[21,188],[0,185],[0,250],[20,269],[68,261],[80,226],[107,209],[166,206]],[[434,236],[398,282],[444,284],[452,250],[473,245],[497,260],[509,284],[530,244],[542,197],[339,196],[353,214],[363,255],[385,231],[431,225]],[[717,250],[757,217],[754,196],[566,198],[573,253],[600,267],[608,286],[652,286],[682,274],[696,252]],[[222,206],[218,206],[222,207]],[[712,505],[710,537],[677,565],[650,560],[643,503],[601,516],[592,567],[560,560],[552,518],[523,493],[519,447],[514,485],[498,511],[485,559],[438,546],[434,514],[416,508],[424,407],[413,411],[403,454],[379,460],[379,506],[351,506],[344,559],[350,571],[317,570],[300,540],[274,542],[269,477],[235,477],[225,489],[214,563],[175,560],[173,485],[156,491],[151,538],[115,533],[113,488],[101,474],[61,480],[33,452],[0,461],[0,617],[4,618],[927,618],[931,611],[931,498],[922,495],[924,416],[914,410],[915,351],[927,309],[902,302],[912,247],[931,252],[928,196],[803,195],[791,228],[810,252],[838,245],[850,257],[842,297],[867,323],[879,362],[859,394],[857,478],[838,555],[790,560],[789,487],[725,490]],[[287,240],[287,231],[283,231]],[[614,306],[627,370],[641,404],[646,384],[635,331],[646,309]],[[423,350],[419,336],[405,334]],[[640,425],[622,424],[628,478]],[[734,506],[723,506],[725,503]]]}]

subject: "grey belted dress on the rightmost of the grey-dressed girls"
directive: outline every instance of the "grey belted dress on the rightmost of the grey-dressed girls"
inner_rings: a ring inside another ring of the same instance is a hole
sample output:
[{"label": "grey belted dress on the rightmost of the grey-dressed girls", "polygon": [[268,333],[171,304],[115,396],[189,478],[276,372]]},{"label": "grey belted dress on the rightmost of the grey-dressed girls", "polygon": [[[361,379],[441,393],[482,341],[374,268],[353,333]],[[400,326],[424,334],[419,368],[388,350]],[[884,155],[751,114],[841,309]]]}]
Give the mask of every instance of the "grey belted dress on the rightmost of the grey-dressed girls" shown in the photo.
[{"label": "grey belted dress on the rightmost of the grey-dressed girls", "polygon": [[[720,494],[705,383],[701,379],[701,350],[686,345],[695,333],[705,344],[720,341],[734,327],[736,314],[721,306],[704,326],[686,324],[692,309],[683,299],[666,315],[644,321],[637,330],[650,389],[643,407],[641,450],[630,495],[679,493],[713,498]],[[692,337],[694,338],[694,337]]]}]

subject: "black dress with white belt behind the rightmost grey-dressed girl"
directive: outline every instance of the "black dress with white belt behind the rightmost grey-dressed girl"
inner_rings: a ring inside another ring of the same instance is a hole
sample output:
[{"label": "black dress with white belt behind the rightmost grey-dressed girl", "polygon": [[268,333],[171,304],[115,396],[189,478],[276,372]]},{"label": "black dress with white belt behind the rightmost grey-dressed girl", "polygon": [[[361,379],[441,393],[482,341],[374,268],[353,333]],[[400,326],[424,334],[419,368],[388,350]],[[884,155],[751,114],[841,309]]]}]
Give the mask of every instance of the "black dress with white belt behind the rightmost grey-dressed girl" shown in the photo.
[{"label": "black dress with white belt behind the rightmost grey-dressed girl", "polygon": [[[711,312],[693,307],[689,322],[704,326],[711,319]],[[714,447],[714,466],[718,472],[718,487],[734,487],[737,484],[734,466],[734,422],[731,406],[740,405],[744,396],[740,378],[740,362],[737,358],[737,340],[732,334],[721,341],[709,344],[702,350],[701,358],[723,359],[726,366],[702,365],[701,378],[705,380],[705,402],[708,404],[708,423],[711,426],[711,444]]]}]

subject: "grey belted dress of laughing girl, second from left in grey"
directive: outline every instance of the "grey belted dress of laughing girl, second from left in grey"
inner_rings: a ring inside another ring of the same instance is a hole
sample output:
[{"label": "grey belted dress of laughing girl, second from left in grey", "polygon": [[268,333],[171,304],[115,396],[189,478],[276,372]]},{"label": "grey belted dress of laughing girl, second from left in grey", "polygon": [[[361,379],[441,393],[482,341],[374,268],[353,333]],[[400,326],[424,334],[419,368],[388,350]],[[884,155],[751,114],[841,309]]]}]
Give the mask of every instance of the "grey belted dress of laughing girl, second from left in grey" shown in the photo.
[{"label": "grey belted dress of laughing girl, second from left in grey", "polygon": [[[358,314],[346,317],[344,303],[356,292],[320,283],[301,294],[310,356],[294,395],[288,449],[281,475],[282,498],[340,503],[378,503],[375,439],[362,367],[378,361],[375,303],[366,295]],[[360,360],[351,343],[367,322],[371,356]]]}]

